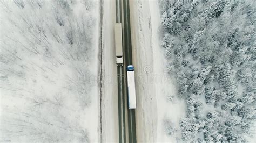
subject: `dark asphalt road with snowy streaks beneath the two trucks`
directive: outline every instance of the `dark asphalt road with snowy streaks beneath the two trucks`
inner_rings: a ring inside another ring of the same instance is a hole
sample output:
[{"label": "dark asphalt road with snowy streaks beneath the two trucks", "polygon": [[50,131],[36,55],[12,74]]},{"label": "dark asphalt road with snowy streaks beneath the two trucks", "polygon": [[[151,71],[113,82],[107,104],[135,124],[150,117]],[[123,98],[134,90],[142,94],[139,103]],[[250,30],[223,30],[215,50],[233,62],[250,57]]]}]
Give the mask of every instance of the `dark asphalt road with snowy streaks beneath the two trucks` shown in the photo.
[{"label": "dark asphalt road with snowy streaks beneath the two trucks", "polygon": [[[119,142],[136,142],[135,109],[128,109],[126,67],[132,65],[129,0],[116,0],[116,22],[122,23],[124,64],[118,65]],[[128,131],[128,132],[127,132]]]}]

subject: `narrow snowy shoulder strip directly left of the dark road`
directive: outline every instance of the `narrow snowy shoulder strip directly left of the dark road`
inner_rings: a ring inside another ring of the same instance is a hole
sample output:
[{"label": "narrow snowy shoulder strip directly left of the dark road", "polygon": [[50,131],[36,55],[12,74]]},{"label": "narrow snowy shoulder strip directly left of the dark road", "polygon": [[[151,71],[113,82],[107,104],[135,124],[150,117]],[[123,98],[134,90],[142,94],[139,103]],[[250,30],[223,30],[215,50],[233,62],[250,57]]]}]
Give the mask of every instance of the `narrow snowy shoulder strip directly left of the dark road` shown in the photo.
[{"label": "narrow snowy shoulder strip directly left of the dark road", "polygon": [[102,142],[118,142],[117,65],[114,49],[115,1],[103,3]]}]

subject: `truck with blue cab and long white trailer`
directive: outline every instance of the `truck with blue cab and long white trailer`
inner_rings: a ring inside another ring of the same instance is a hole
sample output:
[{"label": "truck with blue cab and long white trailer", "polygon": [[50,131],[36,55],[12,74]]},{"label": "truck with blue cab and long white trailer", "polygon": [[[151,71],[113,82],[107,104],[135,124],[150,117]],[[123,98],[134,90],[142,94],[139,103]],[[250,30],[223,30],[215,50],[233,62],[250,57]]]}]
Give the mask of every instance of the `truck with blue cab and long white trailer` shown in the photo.
[{"label": "truck with blue cab and long white trailer", "polygon": [[136,109],[135,76],[132,65],[127,66],[127,88],[129,109]]}]

